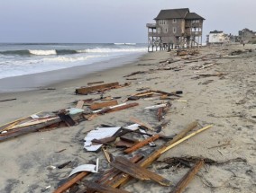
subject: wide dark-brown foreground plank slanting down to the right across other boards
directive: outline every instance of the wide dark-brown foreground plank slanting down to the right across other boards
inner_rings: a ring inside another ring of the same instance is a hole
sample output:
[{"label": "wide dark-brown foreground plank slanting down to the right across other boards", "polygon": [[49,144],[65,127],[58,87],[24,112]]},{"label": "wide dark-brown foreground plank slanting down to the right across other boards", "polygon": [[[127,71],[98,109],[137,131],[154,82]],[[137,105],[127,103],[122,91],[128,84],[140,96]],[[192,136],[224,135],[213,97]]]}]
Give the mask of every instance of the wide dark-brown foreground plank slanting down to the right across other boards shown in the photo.
[{"label": "wide dark-brown foreground plank slanting down to the right across other boards", "polygon": [[124,157],[115,157],[114,161],[110,162],[110,164],[114,168],[133,176],[133,178],[135,178],[135,179],[154,180],[162,186],[170,186],[171,185],[171,182],[169,180],[161,177],[160,175],[158,175],[152,171],[148,171],[147,169],[142,168],[138,164],[130,162],[129,160],[127,160]]}]

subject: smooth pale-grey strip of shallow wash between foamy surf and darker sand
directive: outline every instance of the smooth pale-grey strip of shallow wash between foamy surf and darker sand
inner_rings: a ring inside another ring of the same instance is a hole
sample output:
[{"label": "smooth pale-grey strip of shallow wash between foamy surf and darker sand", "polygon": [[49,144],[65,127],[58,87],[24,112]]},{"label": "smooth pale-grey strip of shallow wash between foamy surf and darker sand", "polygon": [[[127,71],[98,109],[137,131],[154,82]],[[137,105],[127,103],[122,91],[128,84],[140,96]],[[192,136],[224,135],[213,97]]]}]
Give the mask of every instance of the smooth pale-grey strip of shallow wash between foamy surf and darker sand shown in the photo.
[{"label": "smooth pale-grey strip of shallow wash between foamy surf and darker sand", "polygon": [[117,66],[129,65],[130,63],[139,60],[140,57],[145,54],[146,53],[133,53],[101,62],[95,62],[89,65],[72,66],[31,75],[6,77],[0,79],[0,93],[27,92],[38,90],[43,87],[51,87],[52,85],[80,79]]}]

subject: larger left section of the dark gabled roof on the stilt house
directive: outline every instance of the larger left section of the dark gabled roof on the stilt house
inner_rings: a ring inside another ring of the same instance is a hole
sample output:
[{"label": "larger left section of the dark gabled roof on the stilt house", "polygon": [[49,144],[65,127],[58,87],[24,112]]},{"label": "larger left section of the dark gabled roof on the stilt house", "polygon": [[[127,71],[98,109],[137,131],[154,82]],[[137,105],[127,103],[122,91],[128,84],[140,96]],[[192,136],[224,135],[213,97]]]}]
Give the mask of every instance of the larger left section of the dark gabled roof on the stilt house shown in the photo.
[{"label": "larger left section of the dark gabled roof on the stilt house", "polygon": [[185,19],[187,13],[189,13],[188,8],[161,10],[154,20]]}]

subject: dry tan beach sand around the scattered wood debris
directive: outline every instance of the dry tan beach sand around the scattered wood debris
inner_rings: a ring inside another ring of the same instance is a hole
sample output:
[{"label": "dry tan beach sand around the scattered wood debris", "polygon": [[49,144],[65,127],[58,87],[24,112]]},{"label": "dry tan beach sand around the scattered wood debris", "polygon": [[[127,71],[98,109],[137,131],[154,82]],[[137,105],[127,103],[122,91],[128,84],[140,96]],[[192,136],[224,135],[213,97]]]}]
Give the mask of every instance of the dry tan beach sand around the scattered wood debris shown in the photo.
[{"label": "dry tan beach sand around the scattered wood debris", "polygon": [[[177,134],[193,120],[201,126],[213,124],[214,127],[198,136],[169,150],[160,157],[203,156],[218,162],[235,158],[246,159],[247,162],[231,162],[221,165],[206,165],[192,180],[185,192],[256,192],[256,55],[255,46],[246,45],[252,52],[242,53],[233,58],[218,58],[230,54],[233,50],[242,49],[241,45],[200,48],[200,54],[190,60],[176,57],[175,52],[155,52],[141,57],[132,64],[115,67],[104,72],[50,85],[56,90],[39,90],[32,92],[1,93],[0,100],[17,98],[16,101],[0,102],[0,125],[16,118],[26,117],[38,111],[60,110],[74,107],[73,101],[97,98],[99,95],[75,95],[77,87],[88,82],[105,81],[111,83],[132,83],[129,87],[105,92],[105,96],[127,96],[136,93],[137,89],[149,87],[152,90],[165,92],[183,91],[182,101],[171,101],[172,106],[165,117],[168,127],[162,130],[164,135]],[[136,71],[148,71],[163,67],[161,60],[173,58],[179,60],[164,67],[181,68],[174,70],[156,70],[144,75],[133,75],[137,80],[127,81],[123,75]],[[192,63],[187,61],[197,60]],[[197,70],[202,64],[215,64]],[[217,74],[223,76],[200,77],[199,74]],[[187,102],[185,102],[187,101]],[[100,124],[125,126],[130,117],[140,118],[156,127],[160,124],[153,111],[145,111],[144,107],[158,102],[139,100],[139,106],[129,110],[99,116],[92,121],[81,122],[76,127],[65,127],[55,130],[31,133],[19,136],[0,145],[0,192],[52,192],[68,178],[69,172],[80,164],[100,158],[100,171],[109,165],[102,153],[87,153],[83,149],[83,138],[87,131]],[[158,145],[164,141],[159,140]],[[219,147],[214,147],[220,145]],[[223,146],[221,146],[223,145]],[[214,148],[211,148],[214,147]],[[157,147],[156,147],[157,148]],[[66,149],[61,153],[59,150]],[[141,151],[147,153],[152,147]],[[111,152],[120,154],[120,150]],[[50,170],[49,166],[58,166],[72,161],[64,169]],[[176,184],[187,172],[185,167],[163,169],[167,163],[154,162],[149,168]],[[49,187],[50,189],[45,189]],[[130,192],[170,192],[151,181],[132,180],[123,189]]]}]

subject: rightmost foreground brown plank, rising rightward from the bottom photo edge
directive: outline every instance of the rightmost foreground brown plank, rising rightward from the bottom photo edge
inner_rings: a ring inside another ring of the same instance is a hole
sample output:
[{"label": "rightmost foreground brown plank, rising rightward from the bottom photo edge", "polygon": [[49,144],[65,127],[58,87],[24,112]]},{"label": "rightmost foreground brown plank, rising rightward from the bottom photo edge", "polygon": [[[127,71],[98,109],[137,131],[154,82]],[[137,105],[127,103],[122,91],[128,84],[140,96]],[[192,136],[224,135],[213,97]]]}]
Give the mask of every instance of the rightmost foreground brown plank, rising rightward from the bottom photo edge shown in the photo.
[{"label": "rightmost foreground brown plank, rising rightward from the bottom photo edge", "polygon": [[193,168],[187,171],[186,175],[178,181],[178,184],[171,190],[170,193],[181,193],[186,187],[187,184],[193,180],[197,172],[202,168],[204,165],[204,160],[198,161]]}]

